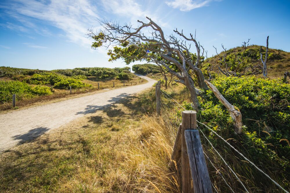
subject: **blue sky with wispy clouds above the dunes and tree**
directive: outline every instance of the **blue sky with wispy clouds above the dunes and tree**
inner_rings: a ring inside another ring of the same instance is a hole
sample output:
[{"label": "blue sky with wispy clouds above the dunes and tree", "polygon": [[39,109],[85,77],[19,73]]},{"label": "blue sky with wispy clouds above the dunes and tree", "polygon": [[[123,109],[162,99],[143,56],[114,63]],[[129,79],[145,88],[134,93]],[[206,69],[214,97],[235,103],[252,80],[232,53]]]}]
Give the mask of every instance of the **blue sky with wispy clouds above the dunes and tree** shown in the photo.
[{"label": "blue sky with wispy clouds above the dunes and tree", "polygon": [[[104,48],[92,50],[86,30],[99,27],[96,19],[120,23],[146,21],[194,33],[208,50],[241,45],[265,45],[290,52],[290,1],[270,0],[1,0],[0,66],[33,69],[124,67],[108,62]],[[193,52],[195,50],[192,50]],[[131,65],[130,65],[131,66]]]}]

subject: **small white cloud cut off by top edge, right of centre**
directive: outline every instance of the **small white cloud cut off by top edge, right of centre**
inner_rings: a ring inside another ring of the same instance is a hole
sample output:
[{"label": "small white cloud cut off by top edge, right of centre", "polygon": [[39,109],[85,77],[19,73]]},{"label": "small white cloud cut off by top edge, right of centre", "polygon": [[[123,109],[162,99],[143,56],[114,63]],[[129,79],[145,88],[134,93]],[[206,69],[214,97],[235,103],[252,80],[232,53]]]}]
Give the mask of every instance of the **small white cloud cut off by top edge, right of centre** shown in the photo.
[{"label": "small white cloud cut off by top edge, right of centre", "polygon": [[180,11],[190,11],[196,8],[207,6],[211,0],[174,0],[165,2],[168,6],[178,8]]}]

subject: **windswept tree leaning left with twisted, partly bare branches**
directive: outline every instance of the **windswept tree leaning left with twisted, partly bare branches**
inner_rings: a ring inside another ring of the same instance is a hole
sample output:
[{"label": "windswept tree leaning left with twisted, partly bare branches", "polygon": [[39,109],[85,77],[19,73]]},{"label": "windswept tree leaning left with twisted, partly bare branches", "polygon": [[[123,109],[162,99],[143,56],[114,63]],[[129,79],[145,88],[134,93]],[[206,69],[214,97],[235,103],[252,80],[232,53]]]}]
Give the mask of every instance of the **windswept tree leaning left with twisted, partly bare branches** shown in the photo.
[{"label": "windswept tree leaning left with twisted, partly bare branches", "polygon": [[[160,26],[150,18],[146,18],[148,23],[138,20],[140,26],[137,28],[133,28],[131,24],[122,26],[115,21],[100,21],[101,30],[95,32],[90,29],[87,33],[88,37],[95,40],[92,48],[113,47],[112,50],[108,50],[109,61],[123,59],[126,64],[147,61],[165,67],[169,73],[177,77],[175,81],[188,88],[192,106],[198,110],[200,105],[197,100],[195,81],[191,75],[196,75],[200,88],[209,89],[200,70],[203,47],[196,40],[195,35],[185,36],[183,30],[176,29],[173,30],[173,34],[165,36]],[[196,54],[191,52],[191,43],[196,48]]]}]

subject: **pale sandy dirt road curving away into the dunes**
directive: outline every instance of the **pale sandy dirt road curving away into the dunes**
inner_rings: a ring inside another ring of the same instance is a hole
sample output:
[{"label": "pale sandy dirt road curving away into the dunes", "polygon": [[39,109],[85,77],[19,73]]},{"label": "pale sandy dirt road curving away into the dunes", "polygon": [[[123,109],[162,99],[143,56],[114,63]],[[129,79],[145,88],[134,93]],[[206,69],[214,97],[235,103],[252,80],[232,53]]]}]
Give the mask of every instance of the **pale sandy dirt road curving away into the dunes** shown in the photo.
[{"label": "pale sandy dirt road curving away into the dunes", "polygon": [[148,77],[141,75],[140,77],[148,82],[0,114],[0,153],[18,143],[33,139],[74,119],[100,110],[124,97],[150,88],[156,82]]}]

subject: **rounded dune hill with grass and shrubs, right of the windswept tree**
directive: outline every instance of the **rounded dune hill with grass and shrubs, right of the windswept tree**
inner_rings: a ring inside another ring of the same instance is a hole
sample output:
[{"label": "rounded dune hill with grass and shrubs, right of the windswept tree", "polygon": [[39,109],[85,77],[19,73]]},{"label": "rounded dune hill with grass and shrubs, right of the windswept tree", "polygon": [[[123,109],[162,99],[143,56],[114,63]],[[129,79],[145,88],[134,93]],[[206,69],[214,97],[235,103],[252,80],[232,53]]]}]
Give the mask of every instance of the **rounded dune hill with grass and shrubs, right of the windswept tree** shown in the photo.
[{"label": "rounded dune hill with grass and shrubs, right of the windswept tree", "polygon": [[[231,48],[205,60],[203,69],[219,72],[228,68],[235,71],[236,76],[261,74],[263,65],[260,60],[260,46],[250,45],[244,51],[244,47]],[[266,48],[262,46],[262,59],[265,59]],[[224,55],[226,57],[224,58]],[[226,66],[227,65],[227,66]],[[209,67],[209,68],[208,68]],[[269,77],[282,78],[284,71],[290,71],[290,53],[279,49],[269,48],[267,57],[267,68]]]}]

